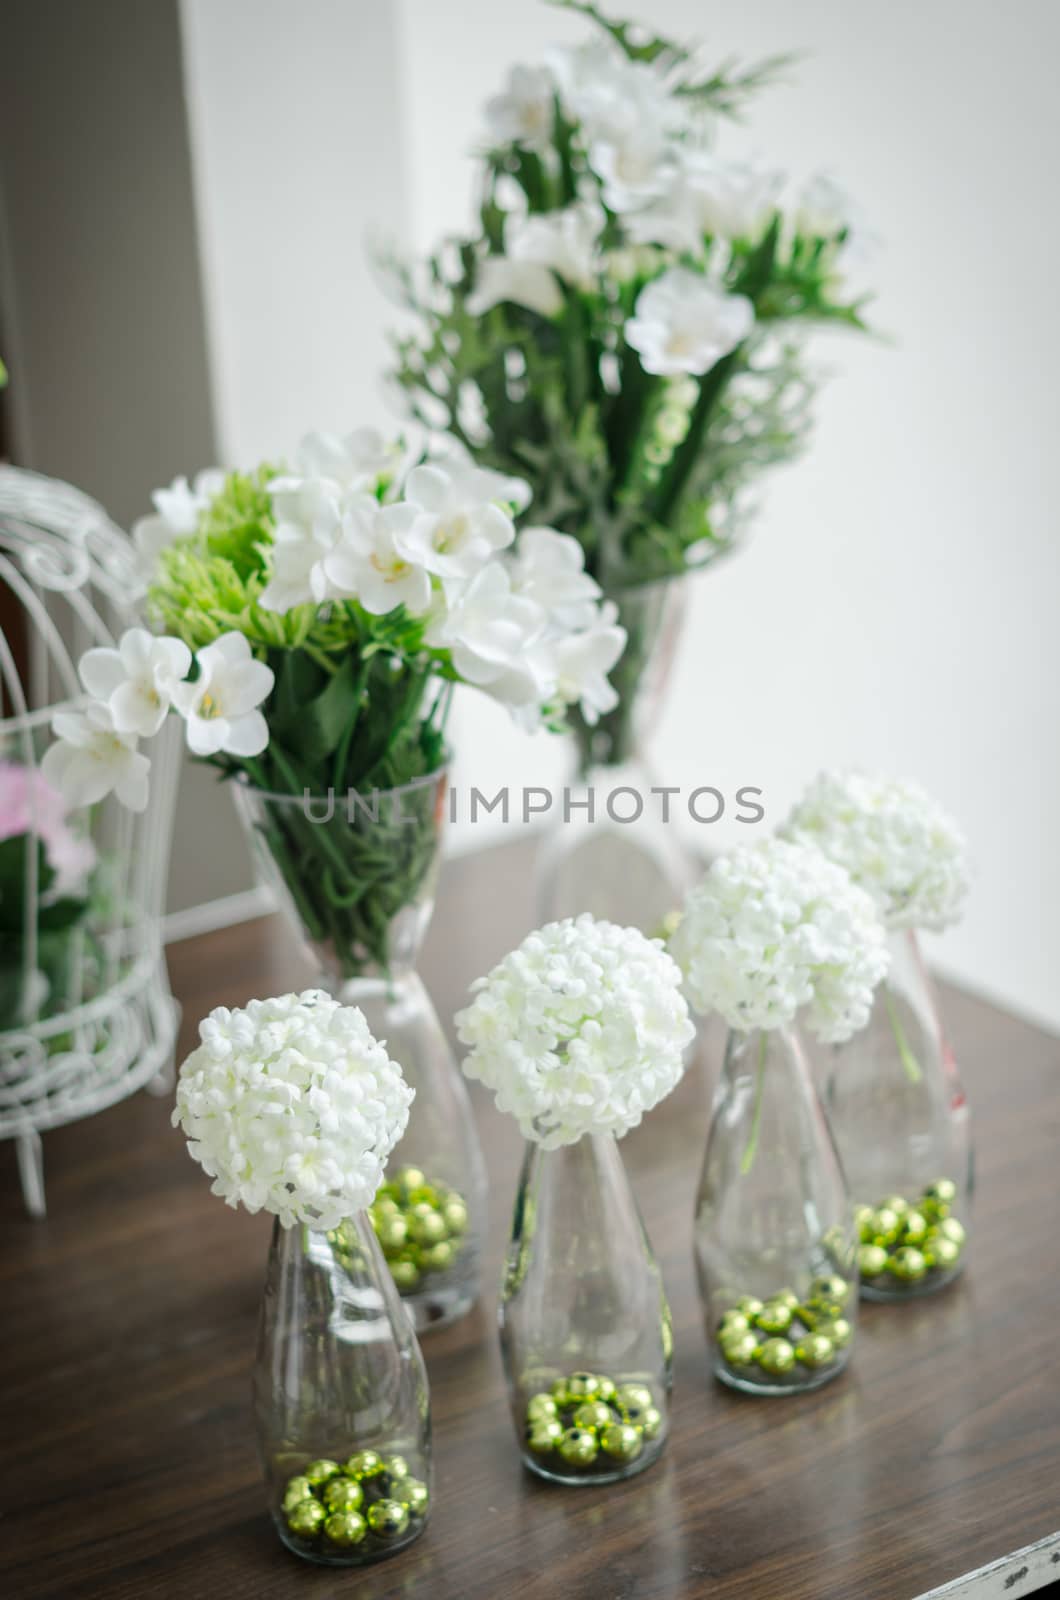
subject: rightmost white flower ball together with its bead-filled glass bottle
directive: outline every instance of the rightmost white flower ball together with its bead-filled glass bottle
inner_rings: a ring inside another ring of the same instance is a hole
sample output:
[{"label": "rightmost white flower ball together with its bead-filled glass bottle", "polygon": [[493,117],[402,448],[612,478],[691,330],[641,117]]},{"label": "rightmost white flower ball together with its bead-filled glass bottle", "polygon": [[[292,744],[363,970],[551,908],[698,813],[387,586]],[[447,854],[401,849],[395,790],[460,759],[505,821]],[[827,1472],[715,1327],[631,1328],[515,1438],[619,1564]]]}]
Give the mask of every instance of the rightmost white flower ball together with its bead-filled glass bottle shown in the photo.
[{"label": "rightmost white flower ball together with its bead-filled glass bottle", "polygon": [[890,971],[868,1026],[836,1045],[828,1110],[858,1203],[861,1294],[930,1294],[964,1266],[972,1134],[917,930],[958,922],[967,846],[917,784],[863,773],[821,773],[785,832],[845,867],[887,926]]}]

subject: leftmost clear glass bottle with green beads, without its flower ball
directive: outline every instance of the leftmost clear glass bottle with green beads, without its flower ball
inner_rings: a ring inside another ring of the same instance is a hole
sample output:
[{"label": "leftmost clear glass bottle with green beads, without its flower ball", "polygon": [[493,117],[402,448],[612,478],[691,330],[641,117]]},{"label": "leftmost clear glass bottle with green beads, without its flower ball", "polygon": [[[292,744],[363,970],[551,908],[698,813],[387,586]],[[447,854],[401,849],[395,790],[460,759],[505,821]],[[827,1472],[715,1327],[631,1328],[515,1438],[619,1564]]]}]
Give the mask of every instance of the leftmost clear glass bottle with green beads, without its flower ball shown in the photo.
[{"label": "leftmost clear glass bottle with green beads, without its flower ball", "polygon": [[363,1213],[331,1234],[277,1221],[253,1395],[269,1510],[288,1549],[363,1566],[420,1538],[428,1374]]}]

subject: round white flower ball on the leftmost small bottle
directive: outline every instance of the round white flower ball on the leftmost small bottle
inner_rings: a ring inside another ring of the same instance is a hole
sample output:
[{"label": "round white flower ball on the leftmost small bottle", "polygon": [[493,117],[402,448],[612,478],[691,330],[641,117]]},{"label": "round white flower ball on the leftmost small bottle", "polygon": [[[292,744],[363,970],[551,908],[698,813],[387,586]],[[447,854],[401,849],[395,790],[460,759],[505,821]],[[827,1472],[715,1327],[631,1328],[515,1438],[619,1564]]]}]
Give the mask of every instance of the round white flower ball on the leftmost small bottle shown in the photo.
[{"label": "round white flower ball on the leftmost small bottle", "polygon": [[322,1230],[371,1203],[415,1091],[362,1011],[306,989],[218,1006],[199,1037],[173,1125],[213,1194]]}]

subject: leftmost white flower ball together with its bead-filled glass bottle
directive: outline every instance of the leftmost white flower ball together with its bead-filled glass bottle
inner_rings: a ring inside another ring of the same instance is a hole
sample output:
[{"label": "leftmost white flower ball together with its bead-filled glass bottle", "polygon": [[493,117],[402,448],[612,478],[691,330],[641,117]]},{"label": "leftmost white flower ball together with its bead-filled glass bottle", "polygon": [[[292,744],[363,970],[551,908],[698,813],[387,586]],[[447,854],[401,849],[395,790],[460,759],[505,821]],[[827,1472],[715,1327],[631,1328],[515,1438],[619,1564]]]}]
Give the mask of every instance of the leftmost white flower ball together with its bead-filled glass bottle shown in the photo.
[{"label": "leftmost white flower ball together with its bead-filled glass bottle", "polygon": [[298,1555],[367,1565],[431,1502],[423,1357],[367,1218],[413,1091],[322,990],[221,1006],[199,1034],[173,1123],[213,1194],[275,1216],[255,1366],[269,1509]]}]

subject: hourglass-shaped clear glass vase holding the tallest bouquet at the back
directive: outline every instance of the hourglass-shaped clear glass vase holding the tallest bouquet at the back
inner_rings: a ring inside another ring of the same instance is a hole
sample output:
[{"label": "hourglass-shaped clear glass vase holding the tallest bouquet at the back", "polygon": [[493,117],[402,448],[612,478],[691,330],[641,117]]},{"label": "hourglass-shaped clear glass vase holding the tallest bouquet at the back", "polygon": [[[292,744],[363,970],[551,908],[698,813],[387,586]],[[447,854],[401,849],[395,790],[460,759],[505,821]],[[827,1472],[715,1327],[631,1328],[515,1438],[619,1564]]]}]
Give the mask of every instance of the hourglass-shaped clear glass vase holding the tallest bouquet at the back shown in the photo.
[{"label": "hourglass-shaped clear glass vase holding the tallest bouquet at the back", "polygon": [[[644,755],[681,637],[681,578],[610,595],[628,642],[610,682],[620,701],[589,726],[573,715],[575,770],[538,856],[543,922],[592,912],[658,933],[695,877],[679,811]],[[655,792],[653,792],[655,790]]]}]

